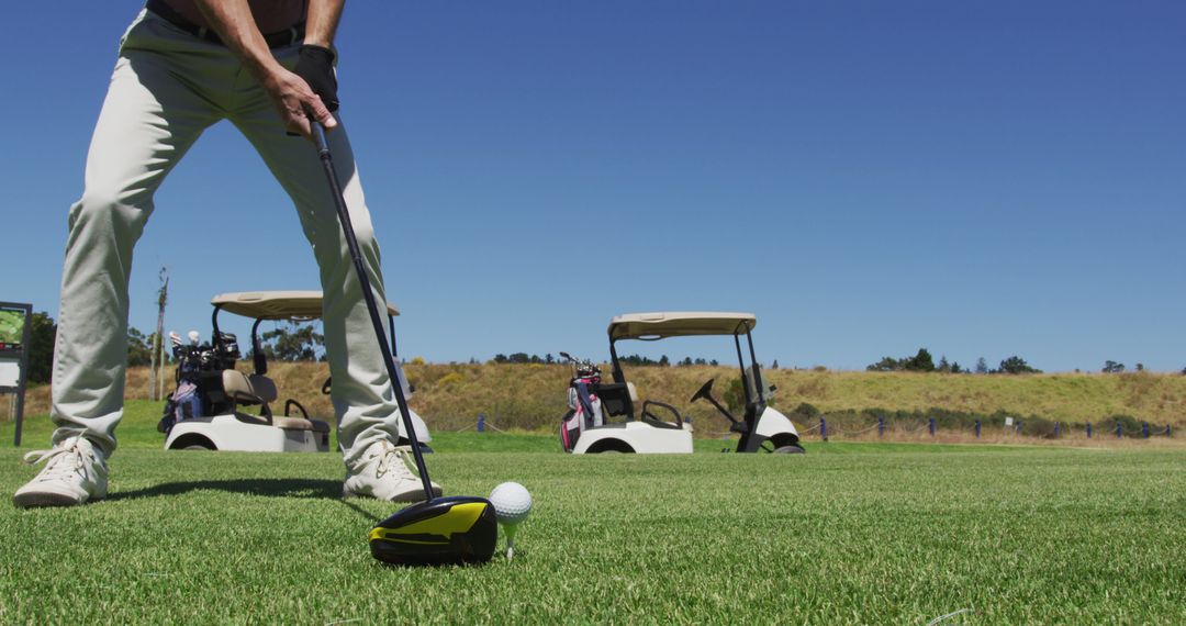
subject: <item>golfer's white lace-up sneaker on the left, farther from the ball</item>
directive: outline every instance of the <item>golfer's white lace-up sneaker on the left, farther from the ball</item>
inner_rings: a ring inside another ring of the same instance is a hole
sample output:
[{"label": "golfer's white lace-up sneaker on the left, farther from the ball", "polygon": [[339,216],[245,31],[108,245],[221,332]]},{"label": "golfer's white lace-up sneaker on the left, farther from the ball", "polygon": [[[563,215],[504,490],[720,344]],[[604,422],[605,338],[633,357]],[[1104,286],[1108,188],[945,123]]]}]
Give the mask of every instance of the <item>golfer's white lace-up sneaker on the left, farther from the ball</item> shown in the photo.
[{"label": "golfer's white lace-up sneaker on the left, farther from the ball", "polygon": [[53,449],[25,455],[30,465],[42,461],[42,473],[12,497],[17,506],[74,506],[107,497],[107,461],[90,441],[70,437]]}]

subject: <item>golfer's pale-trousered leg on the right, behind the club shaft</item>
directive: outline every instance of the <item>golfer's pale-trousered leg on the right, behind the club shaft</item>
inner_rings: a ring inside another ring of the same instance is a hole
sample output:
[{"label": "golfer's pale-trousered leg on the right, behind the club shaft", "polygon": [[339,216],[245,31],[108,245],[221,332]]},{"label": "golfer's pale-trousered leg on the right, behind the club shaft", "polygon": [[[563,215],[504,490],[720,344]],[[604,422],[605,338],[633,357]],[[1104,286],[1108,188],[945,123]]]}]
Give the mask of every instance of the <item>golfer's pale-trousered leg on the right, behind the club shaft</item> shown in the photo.
[{"label": "golfer's pale-trousered leg on the right, behind the club shaft", "polygon": [[[338,441],[346,461],[353,461],[370,443],[397,439],[402,424],[321,161],[308,140],[285,135],[270,106],[235,115],[231,121],[292,197],[305,236],[313,245],[324,292],[323,324]],[[387,298],[378,244],[344,124],[329,134],[329,142],[375,301],[382,307]]]}]

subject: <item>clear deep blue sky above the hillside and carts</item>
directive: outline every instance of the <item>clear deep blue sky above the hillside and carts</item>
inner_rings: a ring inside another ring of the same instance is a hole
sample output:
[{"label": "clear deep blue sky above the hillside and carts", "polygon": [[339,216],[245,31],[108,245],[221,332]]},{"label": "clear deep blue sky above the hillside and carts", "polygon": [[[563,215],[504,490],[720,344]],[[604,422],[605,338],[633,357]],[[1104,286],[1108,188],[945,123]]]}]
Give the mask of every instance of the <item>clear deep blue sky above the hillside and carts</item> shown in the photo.
[{"label": "clear deep blue sky above the hillside and carts", "polygon": [[[69,205],[135,2],[7,8],[0,300],[57,317]],[[342,113],[428,360],[605,357],[619,313],[758,314],[758,357],[1186,366],[1186,5],[350,2]],[[130,322],[317,288],[228,124],[165,183]],[[238,330],[244,336],[247,326]],[[633,352],[635,345],[624,346]],[[648,354],[727,359],[727,344]]]}]

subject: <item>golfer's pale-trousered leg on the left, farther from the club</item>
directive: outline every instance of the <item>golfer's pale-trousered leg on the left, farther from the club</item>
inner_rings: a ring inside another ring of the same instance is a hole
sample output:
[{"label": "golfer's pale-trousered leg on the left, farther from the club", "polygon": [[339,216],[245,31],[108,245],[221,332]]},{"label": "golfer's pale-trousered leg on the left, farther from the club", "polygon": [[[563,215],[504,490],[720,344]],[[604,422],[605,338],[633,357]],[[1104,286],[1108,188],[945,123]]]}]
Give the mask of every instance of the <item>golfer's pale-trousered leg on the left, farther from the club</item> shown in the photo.
[{"label": "golfer's pale-trousered leg on the left, farther from the club", "polygon": [[166,56],[128,31],[70,209],[52,376],[53,442],[84,435],[106,455],[123,413],[128,276],[153,193],[216,115],[173,76]]}]

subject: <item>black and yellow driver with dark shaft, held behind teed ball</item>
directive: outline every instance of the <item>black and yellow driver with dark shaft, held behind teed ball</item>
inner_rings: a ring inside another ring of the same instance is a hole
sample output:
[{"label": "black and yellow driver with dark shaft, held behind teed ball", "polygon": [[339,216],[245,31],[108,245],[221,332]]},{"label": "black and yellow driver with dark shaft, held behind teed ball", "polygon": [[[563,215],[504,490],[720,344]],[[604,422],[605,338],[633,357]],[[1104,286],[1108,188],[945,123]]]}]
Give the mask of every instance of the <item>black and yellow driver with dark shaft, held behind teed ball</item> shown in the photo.
[{"label": "black and yellow driver with dark shaft, held behind teed ball", "polygon": [[326,179],[330,183],[330,191],[338,211],[338,221],[342,223],[342,232],[346,237],[350,257],[353,261],[355,272],[358,274],[358,283],[366,301],[366,311],[370,313],[371,325],[375,327],[375,339],[383,353],[383,364],[387,366],[387,376],[395,394],[395,402],[400,408],[400,417],[403,420],[403,428],[412,443],[412,455],[416,460],[416,470],[420,472],[420,480],[423,481],[427,496],[427,500],[397,511],[371,529],[369,539],[371,556],[387,563],[403,566],[489,561],[495,554],[495,543],[498,539],[498,522],[490,500],[474,496],[432,497],[432,481],[428,480],[428,467],[425,465],[420,441],[416,440],[416,430],[413,428],[408,411],[403,376],[396,368],[391,350],[388,347],[387,334],[383,331],[383,318],[375,304],[375,294],[371,292],[370,279],[366,276],[366,267],[363,264],[362,253],[358,249],[358,239],[355,237],[355,228],[350,222],[350,212],[346,209],[345,198],[342,196],[342,184],[333,171],[333,159],[325,138],[325,127],[312,119],[310,119],[310,127],[313,132],[313,141],[317,143],[318,155],[325,168]]}]

